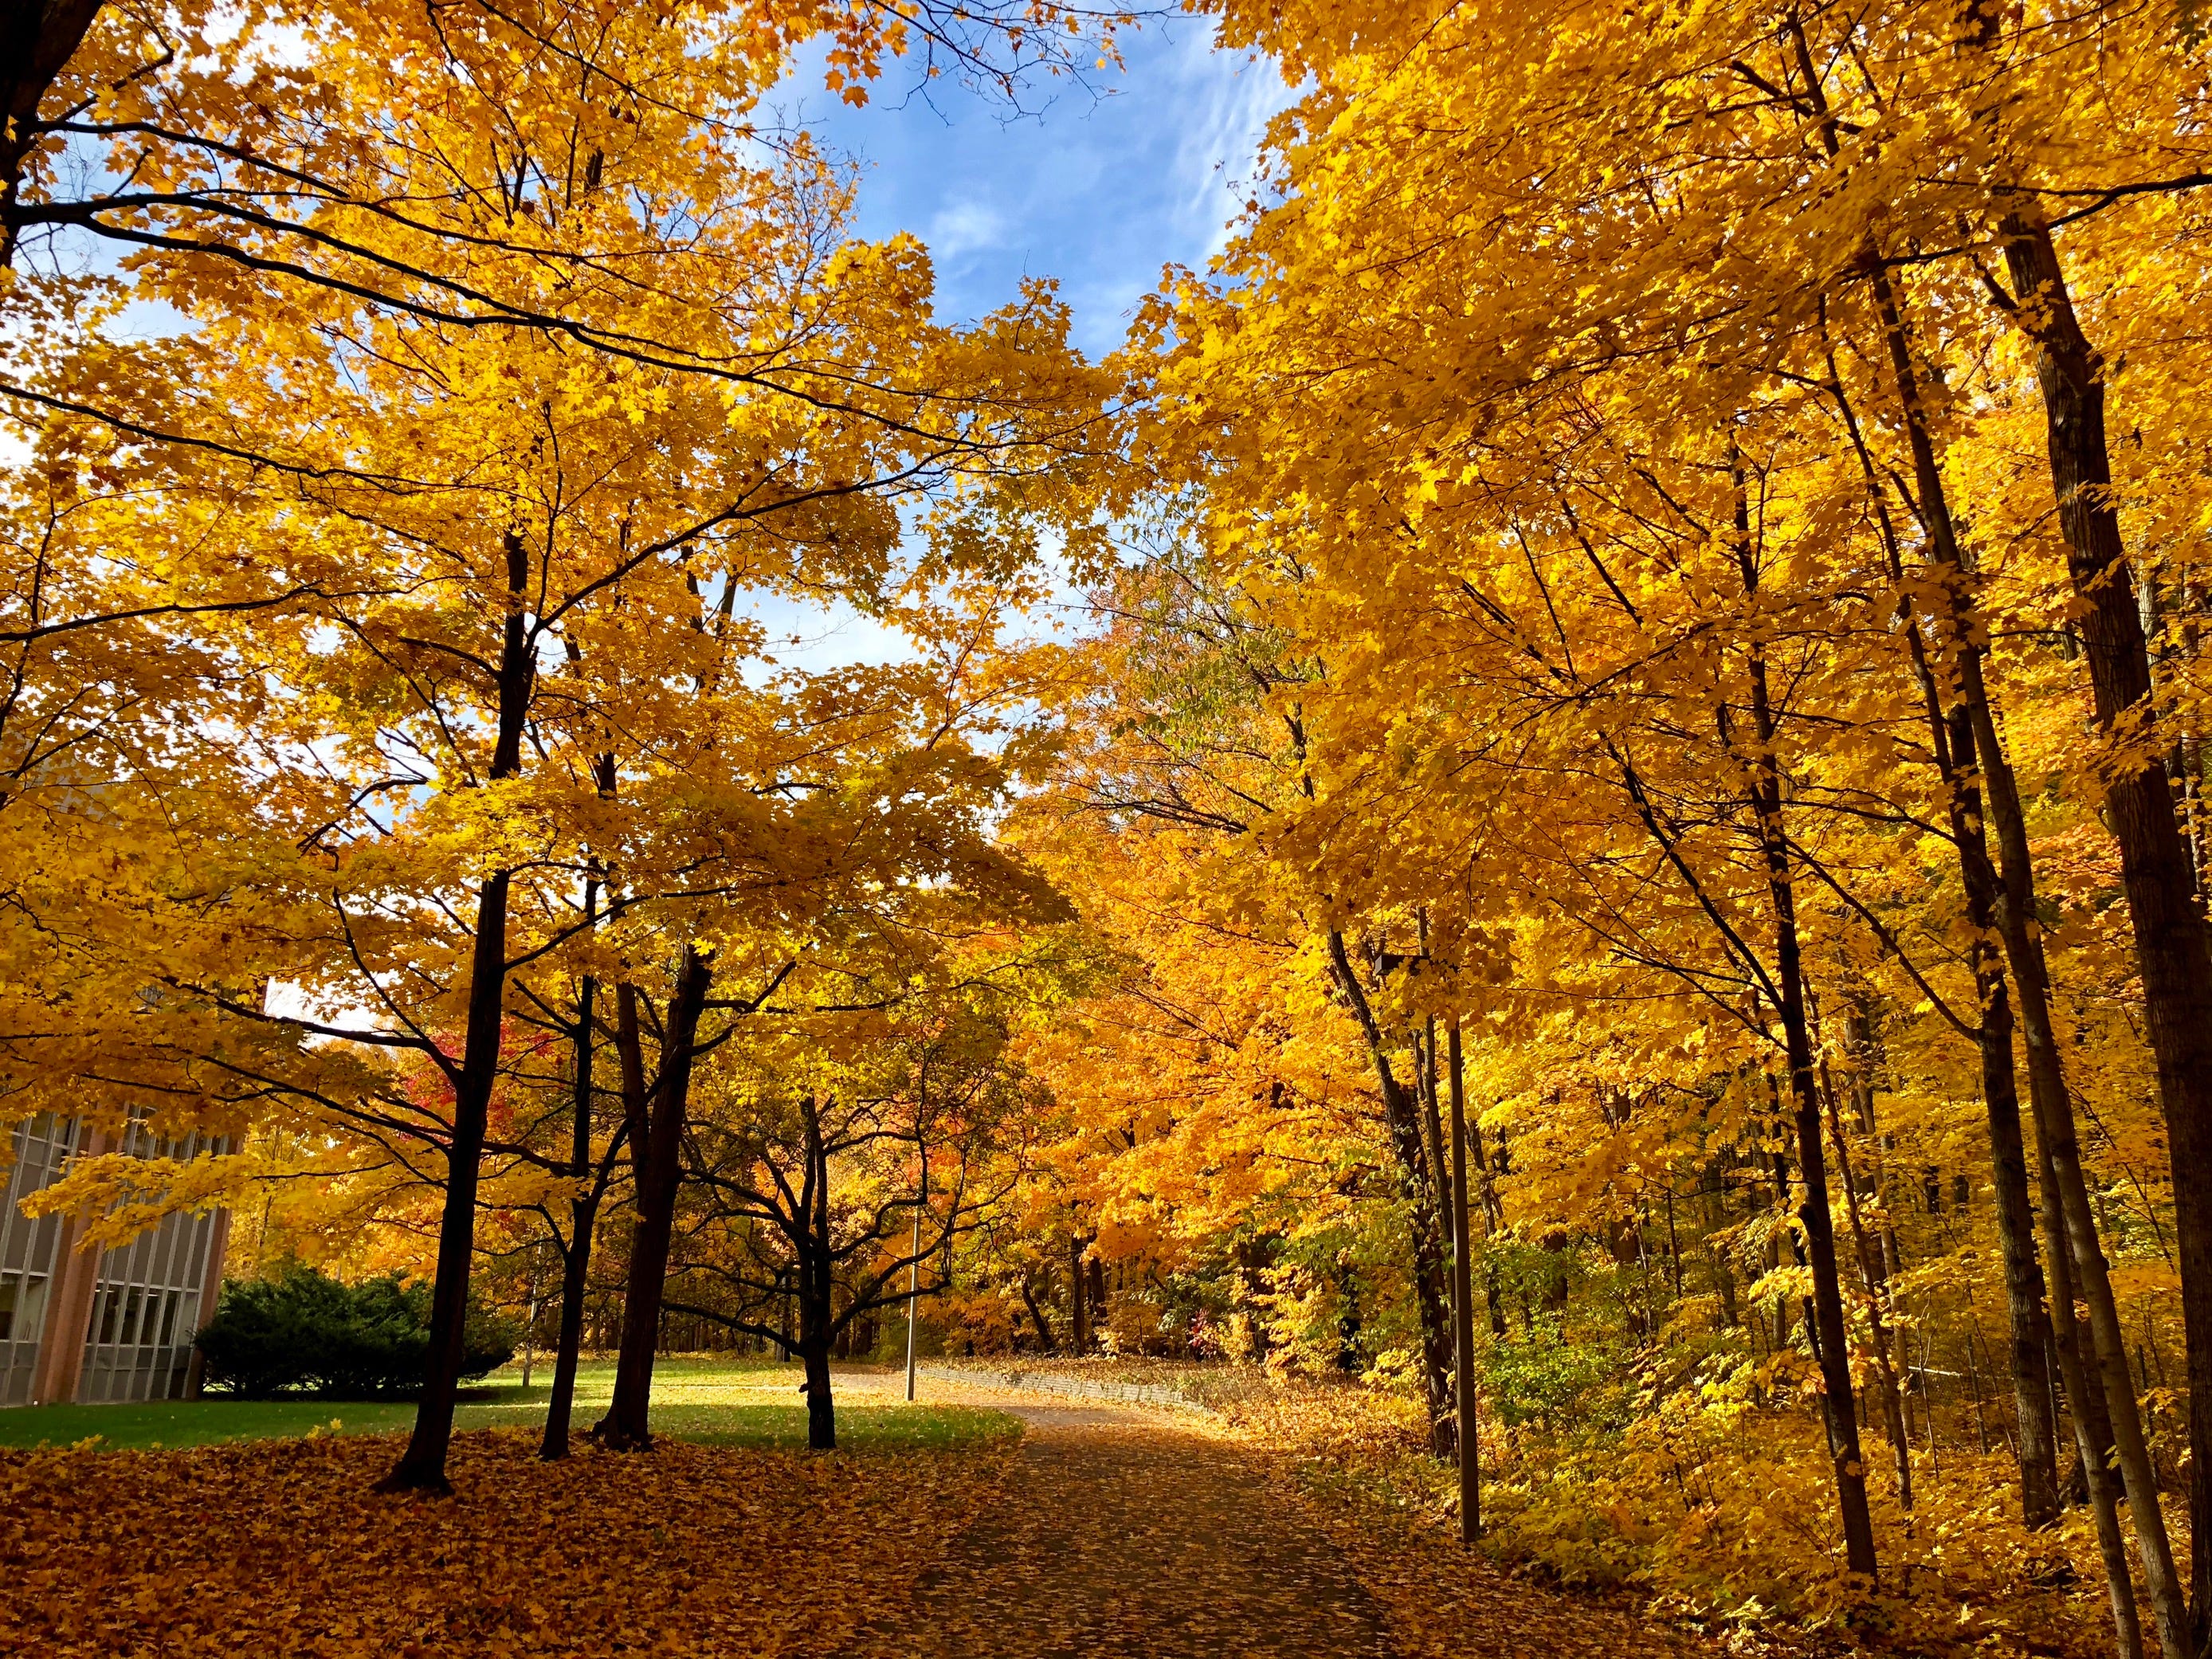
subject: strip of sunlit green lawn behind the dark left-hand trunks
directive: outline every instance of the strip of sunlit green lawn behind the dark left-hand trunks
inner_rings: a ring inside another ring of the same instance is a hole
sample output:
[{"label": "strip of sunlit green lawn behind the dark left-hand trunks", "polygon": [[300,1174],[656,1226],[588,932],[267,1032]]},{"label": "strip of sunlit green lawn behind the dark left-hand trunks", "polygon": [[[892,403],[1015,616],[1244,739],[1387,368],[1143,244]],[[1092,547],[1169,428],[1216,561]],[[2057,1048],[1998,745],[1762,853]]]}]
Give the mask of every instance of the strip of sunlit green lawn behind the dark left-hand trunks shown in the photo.
[{"label": "strip of sunlit green lawn behind the dark left-hand trunks", "polygon": [[[538,1378],[551,1376],[540,1365]],[[575,1431],[597,1422],[615,1385],[613,1360],[584,1360],[575,1387]],[[524,1389],[520,1371],[493,1374],[453,1416],[458,1429],[538,1429],[551,1389]],[[66,1447],[93,1436],[102,1447],[204,1447],[217,1440],[285,1440],[323,1433],[394,1433],[414,1425],[407,1400],[161,1400],[157,1405],[31,1405],[0,1411],[0,1447]],[[653,1367],[653,1431],[717,1447],[799,1449],[807,1409],[799,1367],[772,1360],[666,1358]],[[1018,1436],[1002,1411],[907,1405],[838,1389],[836,1438],[845,1451],[940,1451]]]}]

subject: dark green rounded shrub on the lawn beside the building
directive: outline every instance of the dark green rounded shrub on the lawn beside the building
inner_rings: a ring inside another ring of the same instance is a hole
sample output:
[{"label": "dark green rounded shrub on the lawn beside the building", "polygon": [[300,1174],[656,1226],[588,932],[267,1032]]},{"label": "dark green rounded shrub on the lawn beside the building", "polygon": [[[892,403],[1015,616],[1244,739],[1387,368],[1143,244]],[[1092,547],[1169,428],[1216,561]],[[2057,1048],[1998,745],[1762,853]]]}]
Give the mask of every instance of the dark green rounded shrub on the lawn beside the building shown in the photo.
[{"label": "dark green rounded shrub on the lawn beside the building", "polygon": [[[396,1274],[345,1285],[314,1267],[292,1267],[281,1279],[232,1279],[197,1347],[210,1387],[257,1400],[418,1394],[429,1356],[429,1285],[407,1285]],[[513,1352],[513,1325],[471,1303],[462,1376],[482,1376]]]}]

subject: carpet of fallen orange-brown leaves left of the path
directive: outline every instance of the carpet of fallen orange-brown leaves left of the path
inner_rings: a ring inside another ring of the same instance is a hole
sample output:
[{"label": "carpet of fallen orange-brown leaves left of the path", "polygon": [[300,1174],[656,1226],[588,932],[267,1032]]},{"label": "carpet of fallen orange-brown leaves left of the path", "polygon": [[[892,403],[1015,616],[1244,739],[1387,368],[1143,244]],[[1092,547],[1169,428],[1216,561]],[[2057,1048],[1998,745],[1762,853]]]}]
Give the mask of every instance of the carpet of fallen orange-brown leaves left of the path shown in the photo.
[{"label": "carpet of fallen orange-brown leaves left of the path", "polygon": [[453,1498],[369,1491],[396,1455],[0,1451],[0,1652],[821,1655],[905,1599],[1009,1453],[664,1440],[546,1464],[487,1431],[453,1440]]}]

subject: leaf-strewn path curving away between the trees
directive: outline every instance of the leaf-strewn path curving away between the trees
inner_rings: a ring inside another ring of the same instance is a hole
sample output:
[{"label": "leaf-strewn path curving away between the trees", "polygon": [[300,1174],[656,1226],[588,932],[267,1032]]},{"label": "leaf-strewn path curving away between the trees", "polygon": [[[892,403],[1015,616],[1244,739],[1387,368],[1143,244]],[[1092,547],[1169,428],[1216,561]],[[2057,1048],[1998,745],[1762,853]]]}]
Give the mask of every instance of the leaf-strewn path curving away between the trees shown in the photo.
[{"label": "leaf-strewn path curving away between the trees", "polygon": [[[1250,1449],[1172,1413],[942,1387],[929,1398],[1013,1411],[1026,1425],[1020,1453],[896,1624],[869,1626],[841,1659],[1710,1652],[1458,1555],[1383,1546],[1378,1559],[1365,1528],[1347,1551]],[[1407,1579],[1436,1621],[1411,1624],[1369,1590]]]}]

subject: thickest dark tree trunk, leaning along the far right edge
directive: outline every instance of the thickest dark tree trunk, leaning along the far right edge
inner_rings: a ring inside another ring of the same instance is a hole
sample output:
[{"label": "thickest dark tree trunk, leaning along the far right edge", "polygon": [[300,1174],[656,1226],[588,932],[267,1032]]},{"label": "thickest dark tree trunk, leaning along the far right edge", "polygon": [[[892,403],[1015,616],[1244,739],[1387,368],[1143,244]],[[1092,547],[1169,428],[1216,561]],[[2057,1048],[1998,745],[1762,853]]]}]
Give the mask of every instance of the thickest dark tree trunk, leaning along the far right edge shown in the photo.
[{"label": "thickest dark tree trunk, leaning along the far right edge", "polygon": [[[2104,816],[2119,841],[2121,885],[2143,978],[2143,1024],[2166,1108],[2190,1383],[2194,1617],[2188,1632],[2168,1632],[2161,1608],[2159,1646],[2194,1652],[2203,1646],[2212,1604],[2212,951],[2205,949],[2190,854],[2166,768],[2143,734],[2121,737],[2148,712],[2150,659],[2119,535],[2119,511],[2112,504],[2104,365],[2075,316],[2048,226],[2024,210],[2006,215],[2004,259],[2017,296],[2013,316],[2035,343],[2051,487],[2059,529],[2066,533],[2066,568],[2081,602],[2079,628],[2097,726],[2119,739],[2124,750],[2101,768]],[[2090,1316],[2095,1318],[2095,1305]],[[2106,1396],[2112,1396],[2110,1387]],[[2152,1595],[2157,1597],[2157,1586]]]}]

